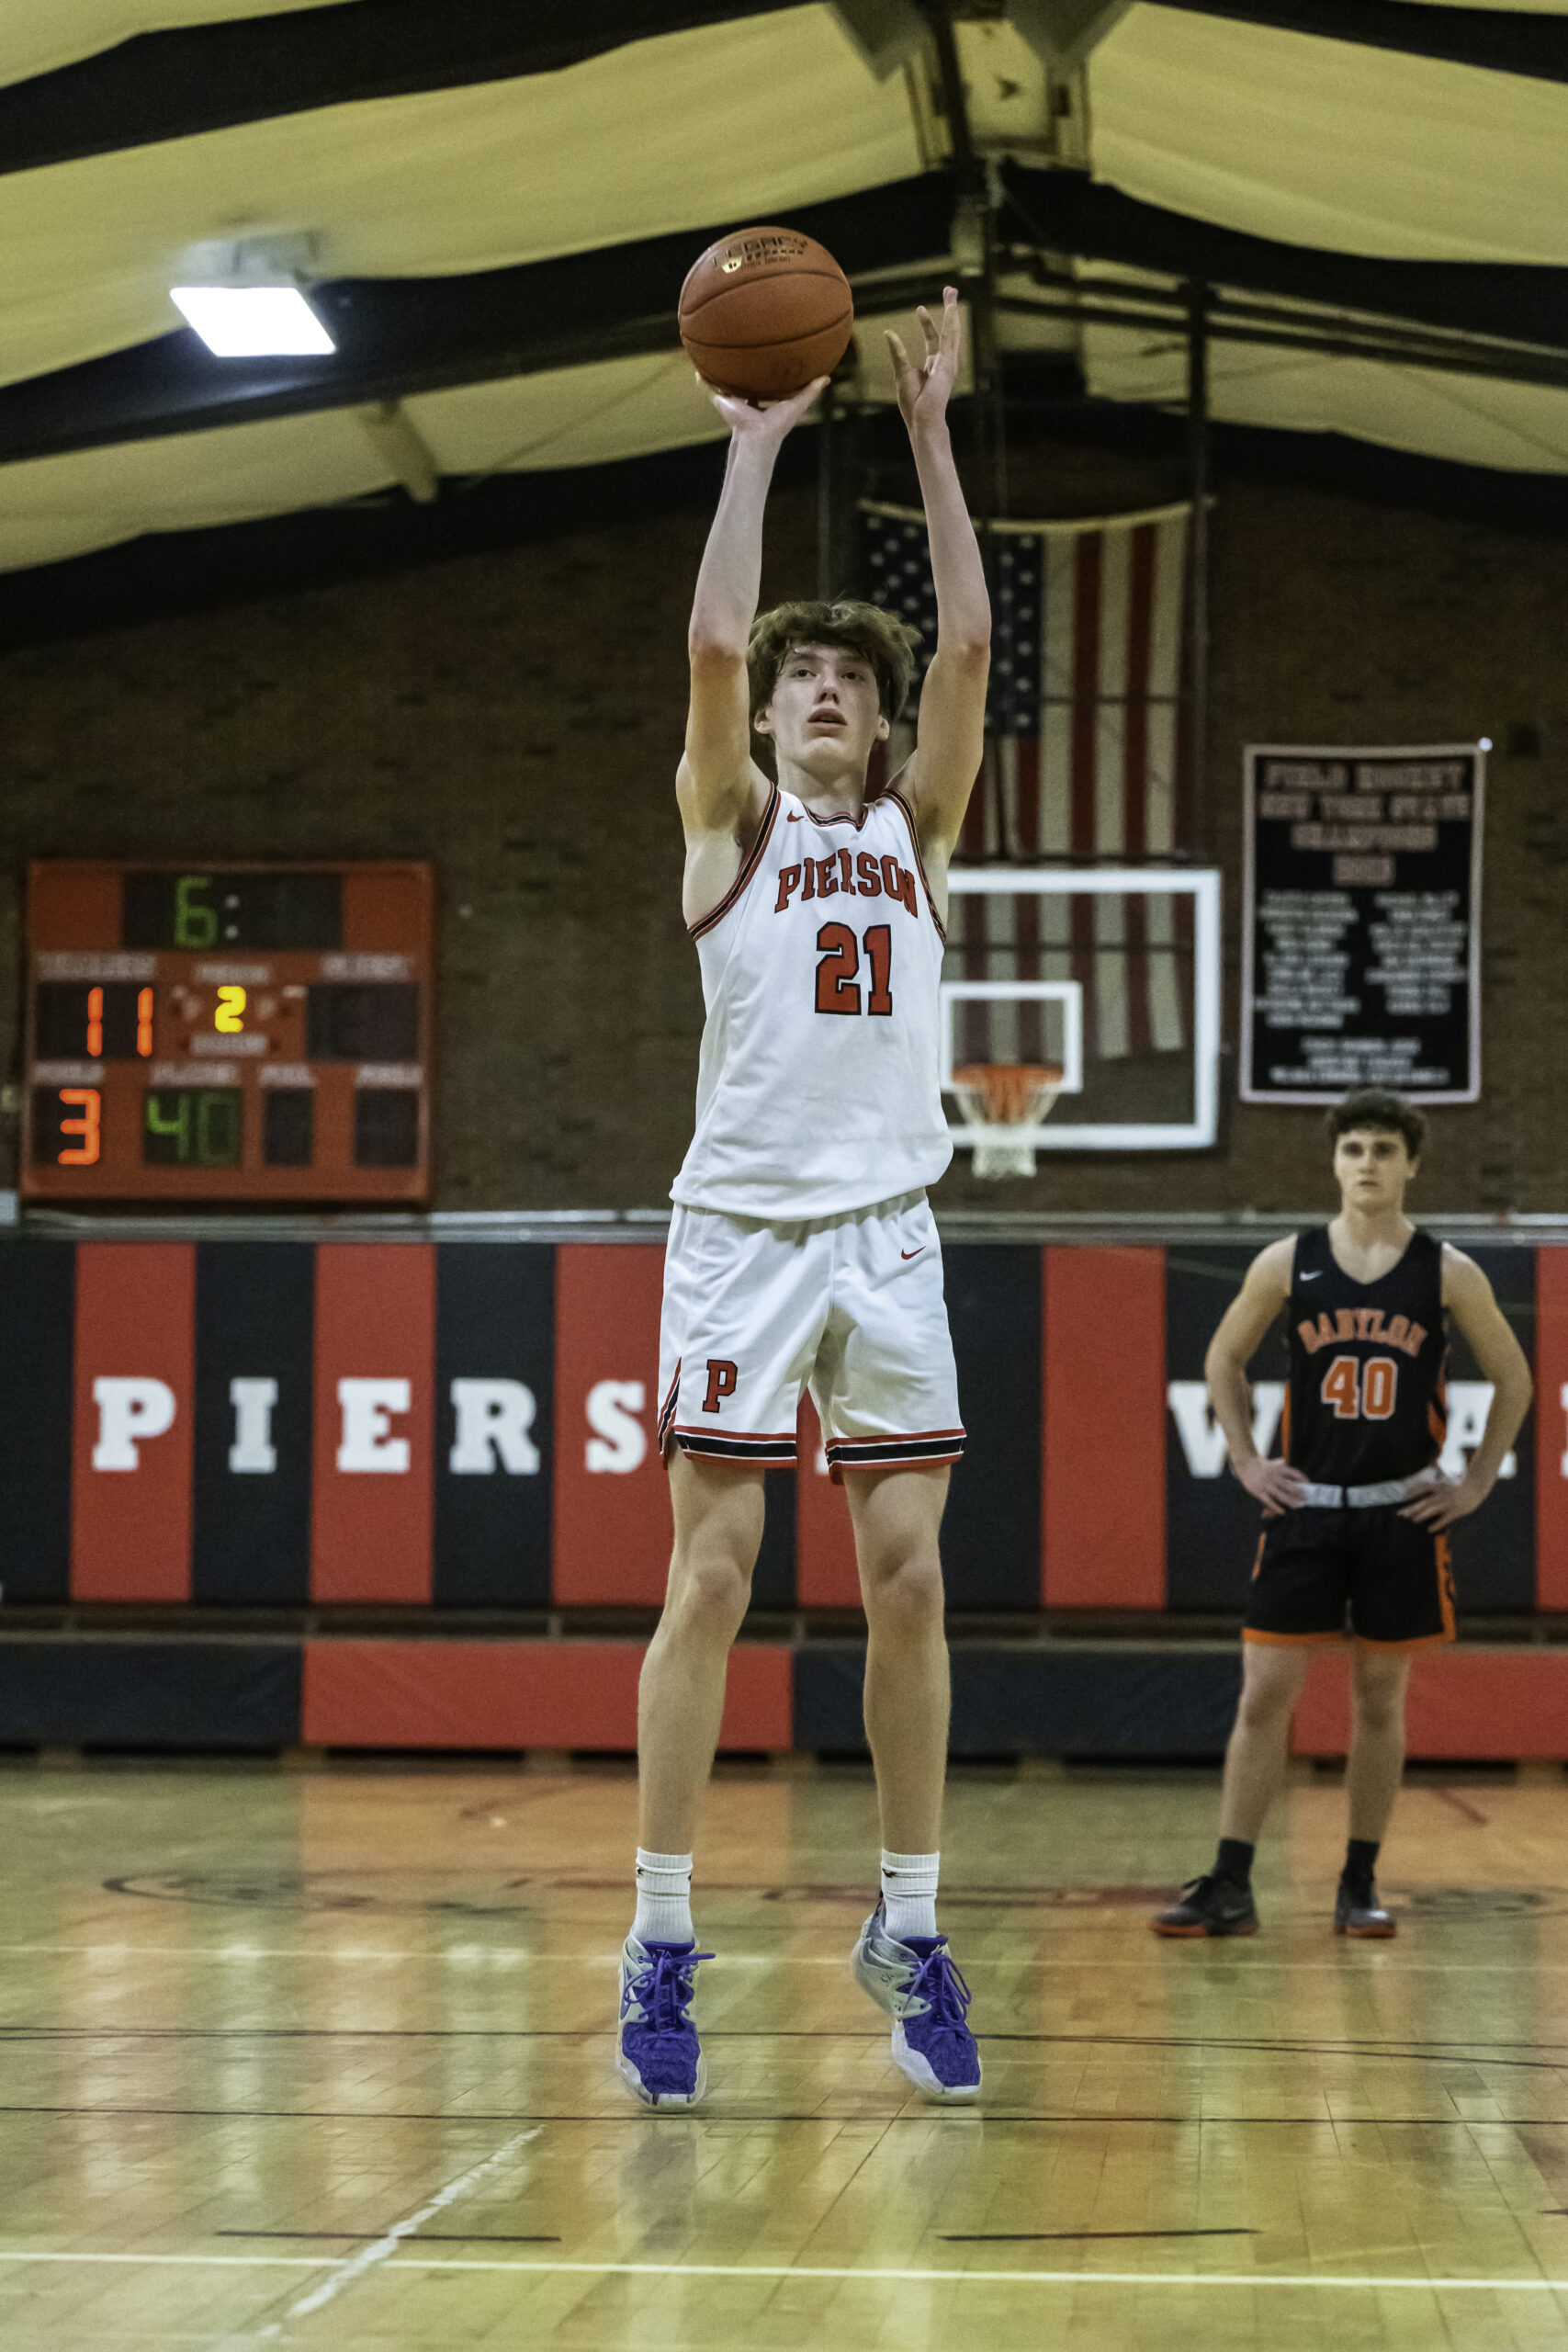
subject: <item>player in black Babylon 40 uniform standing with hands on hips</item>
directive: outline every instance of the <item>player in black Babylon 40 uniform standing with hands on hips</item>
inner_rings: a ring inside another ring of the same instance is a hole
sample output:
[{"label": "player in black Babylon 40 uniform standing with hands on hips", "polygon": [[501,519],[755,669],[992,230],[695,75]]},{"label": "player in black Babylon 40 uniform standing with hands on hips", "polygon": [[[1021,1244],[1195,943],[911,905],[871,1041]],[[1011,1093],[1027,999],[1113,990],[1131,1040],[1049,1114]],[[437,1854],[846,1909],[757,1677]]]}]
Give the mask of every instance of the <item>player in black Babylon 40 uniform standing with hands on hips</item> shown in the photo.
[{"label": "player in black Babylon 40 uniform standing with hands on hips", "polygon": [[[1340,1936],[1392,1936],[1373,1865],[1403,1769],[1410,1651],[1453,1639],[1448,1526],[1479,1510],[1530,1404],[1530,1367],[1493,1287],[1462,1249],[1403,1211],[1427,1122],[1366,1089],[1328,1115],[1340,1214],[1272,1242],[1248,1268],[1204,1371],[1229,1463],[1265,1526],[1244,1625],[1237,1726],[1225,1752],[1220,1851],[1152,1922],[1159,1936],[1253,1936],[1251,1865],[1286,1771],[1291,1715],[1319,1642],[1354,1637],[1349,1849]],[[1246,1367],[1288,1308],[1284,1458],[1253,1444]],[[1493,1383],[1486,1435],[1460,1479],[1439,1468],[1453,1319]]]}]

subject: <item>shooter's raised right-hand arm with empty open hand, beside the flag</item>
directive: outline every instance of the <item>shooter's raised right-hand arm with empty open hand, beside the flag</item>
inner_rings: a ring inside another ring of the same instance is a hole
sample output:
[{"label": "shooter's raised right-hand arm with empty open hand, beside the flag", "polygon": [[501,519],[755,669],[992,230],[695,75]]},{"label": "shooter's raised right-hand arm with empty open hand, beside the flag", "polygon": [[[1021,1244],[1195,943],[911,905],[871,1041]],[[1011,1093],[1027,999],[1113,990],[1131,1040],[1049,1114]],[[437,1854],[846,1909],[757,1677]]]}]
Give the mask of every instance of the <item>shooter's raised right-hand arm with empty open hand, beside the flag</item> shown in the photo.
[{"label": "shooter's raised right-hand arm with empty open hand, beside the flag", "polygon": [[926,339],[919,365],[910,360],[900,339],[889,334],[898,407],[910,428],[926,503],[936,586],[936,656],[919,694],[919,734],[900,790],[914,807],[922,849],[943,866],[980,774],[992,612],[980,546],[947,440],[947,397],[957,381],[964,336],[957,287],[943,287],[940,327],[924,308],[919,325]]}]

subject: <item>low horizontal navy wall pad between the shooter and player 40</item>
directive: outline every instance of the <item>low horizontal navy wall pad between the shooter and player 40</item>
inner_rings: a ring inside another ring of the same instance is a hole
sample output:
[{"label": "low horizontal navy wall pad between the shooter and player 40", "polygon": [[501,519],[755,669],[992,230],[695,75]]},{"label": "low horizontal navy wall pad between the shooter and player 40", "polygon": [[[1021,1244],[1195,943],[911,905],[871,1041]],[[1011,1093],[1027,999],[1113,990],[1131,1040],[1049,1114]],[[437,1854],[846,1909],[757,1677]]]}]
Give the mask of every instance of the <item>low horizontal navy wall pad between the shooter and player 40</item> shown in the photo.
[{"label": "low horizontal navy wall pad between the shooter and player 40", "polygon": [[[853,1642],[795,1651],[795,1745],[865,1748]],[[1241,1691],[1237,1649],[1095,1649],[976,1642],[952,1651],[954,1757],[1215,1757]]]}]

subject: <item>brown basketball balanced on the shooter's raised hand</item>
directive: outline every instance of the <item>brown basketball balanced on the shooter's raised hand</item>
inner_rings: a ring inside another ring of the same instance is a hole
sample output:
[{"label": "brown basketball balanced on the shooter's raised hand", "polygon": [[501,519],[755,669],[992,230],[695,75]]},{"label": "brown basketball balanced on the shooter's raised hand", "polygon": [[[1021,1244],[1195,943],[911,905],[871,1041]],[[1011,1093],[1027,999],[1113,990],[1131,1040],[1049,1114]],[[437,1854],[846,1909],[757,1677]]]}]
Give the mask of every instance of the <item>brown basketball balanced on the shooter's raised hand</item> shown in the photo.
[{"label": "brown basketball balanced on the shooter's raised hand", "polygon": [[736,228],[691,263],[679,292],[686,358],[743,400],[788,400],[827,376],[853,322],[849,278],[797,228]]}]

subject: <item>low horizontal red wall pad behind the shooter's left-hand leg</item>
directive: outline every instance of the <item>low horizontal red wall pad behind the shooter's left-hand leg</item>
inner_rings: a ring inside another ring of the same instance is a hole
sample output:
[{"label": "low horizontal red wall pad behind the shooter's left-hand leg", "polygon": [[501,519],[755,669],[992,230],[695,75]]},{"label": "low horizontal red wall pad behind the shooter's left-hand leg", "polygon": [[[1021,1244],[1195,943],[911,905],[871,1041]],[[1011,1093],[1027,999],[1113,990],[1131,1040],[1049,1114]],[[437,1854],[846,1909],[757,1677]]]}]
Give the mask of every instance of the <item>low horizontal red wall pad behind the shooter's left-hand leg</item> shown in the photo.
[{"label": "low horizontal red wall pad behind the shooter's left-hand leg", "polygon": [[[308,1642],[310,1748],[637,1745],[642,1642]],[[719,1748],[792,1745],[790,1651],[741,1642]]]}]

